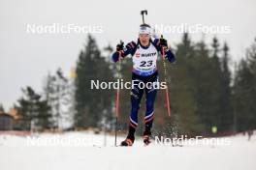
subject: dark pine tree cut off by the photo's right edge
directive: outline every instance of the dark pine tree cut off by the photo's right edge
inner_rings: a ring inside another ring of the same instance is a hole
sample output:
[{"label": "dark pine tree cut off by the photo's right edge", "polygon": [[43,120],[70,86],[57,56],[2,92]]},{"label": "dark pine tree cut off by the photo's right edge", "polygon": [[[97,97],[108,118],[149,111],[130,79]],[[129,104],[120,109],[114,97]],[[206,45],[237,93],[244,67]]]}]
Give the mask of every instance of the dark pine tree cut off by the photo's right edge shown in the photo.
[{"label": "dark pine tree cut off by the photo's right edge", "polygon": [[246,60],[240,61],[233,88],[233,101],[239,131],[256,128],[256,42],[246,51]]}]

